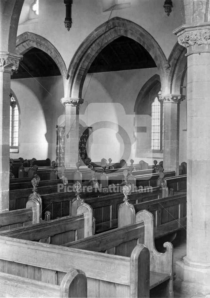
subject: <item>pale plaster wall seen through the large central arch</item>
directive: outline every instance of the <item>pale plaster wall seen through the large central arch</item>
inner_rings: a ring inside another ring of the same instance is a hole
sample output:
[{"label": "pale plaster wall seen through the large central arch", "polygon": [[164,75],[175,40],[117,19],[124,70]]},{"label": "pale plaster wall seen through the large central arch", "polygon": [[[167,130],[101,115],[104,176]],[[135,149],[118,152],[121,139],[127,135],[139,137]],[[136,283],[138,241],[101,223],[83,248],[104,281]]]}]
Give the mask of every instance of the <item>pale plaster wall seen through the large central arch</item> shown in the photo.
[{"label": "pale plaster wall seen through the large central arch", "polygon": [[[142,86],[156,73],[157,68],[151,68],[94,73],[92,76],[91,74],[86,76],[80,119],[93,127],[93,143],[90,149],[92,160],[99,161],[111,157],[113,162],[119,162],[122,158],[126,161],[132,158],[136,163],[141,159],[147,159],[147,162],[152,164],[151,117],[135,115],[134,105]],[[108,125],[105,122],[112,124]],[[114,124],[127,132],[129,145],[123,133],[119,131],[116,133]],[[104,128],[106,125],[108,126]],[[136,133],[136,126],[146,127],[146,132]],[[136,142],[139,144],[138,151]],[[163,153],[155,153],[155,158],[161,159],[162,155]]]}]

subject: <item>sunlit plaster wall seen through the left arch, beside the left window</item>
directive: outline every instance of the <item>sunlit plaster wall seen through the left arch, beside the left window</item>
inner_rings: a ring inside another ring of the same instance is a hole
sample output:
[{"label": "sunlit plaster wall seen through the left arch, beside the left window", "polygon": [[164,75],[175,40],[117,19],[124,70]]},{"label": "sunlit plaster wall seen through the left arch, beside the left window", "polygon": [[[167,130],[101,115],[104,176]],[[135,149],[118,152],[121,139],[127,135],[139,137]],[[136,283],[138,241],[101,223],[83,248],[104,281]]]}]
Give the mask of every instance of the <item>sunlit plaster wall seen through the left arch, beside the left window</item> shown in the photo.
[{"label": "sunlit plaster wall seen through the left arch, beside the left window", "polygon": [[56,158],[56,125],[64,107],[61,76],[11,80],[20,106],[19,153],[24,159]]}]

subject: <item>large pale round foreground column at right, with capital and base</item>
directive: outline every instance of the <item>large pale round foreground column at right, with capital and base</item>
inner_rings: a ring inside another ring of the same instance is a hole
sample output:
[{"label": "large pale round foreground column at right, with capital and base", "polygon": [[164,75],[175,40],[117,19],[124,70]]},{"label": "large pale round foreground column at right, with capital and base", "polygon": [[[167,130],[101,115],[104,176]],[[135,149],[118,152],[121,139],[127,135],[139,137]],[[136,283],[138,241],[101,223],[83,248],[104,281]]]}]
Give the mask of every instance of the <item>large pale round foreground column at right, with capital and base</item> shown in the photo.
[{"label": "large pale round foreground column at right, with capital and base", "polygon": [[174,31],[187,48],[187,255],[176,264],[183,292],[210,292],[210,25]]}]

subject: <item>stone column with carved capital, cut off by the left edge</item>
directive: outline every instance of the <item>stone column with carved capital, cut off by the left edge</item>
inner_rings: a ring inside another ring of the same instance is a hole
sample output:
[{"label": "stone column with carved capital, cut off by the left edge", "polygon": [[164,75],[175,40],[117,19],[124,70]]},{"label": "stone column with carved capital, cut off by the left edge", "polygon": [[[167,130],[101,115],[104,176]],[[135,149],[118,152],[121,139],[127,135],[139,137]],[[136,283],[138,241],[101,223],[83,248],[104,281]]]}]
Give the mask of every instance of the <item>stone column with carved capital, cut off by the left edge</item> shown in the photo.
[{"label": "stone column with carved capital, cut off by the left edge", "polygon": [[0,52],[0,212],[9,210],[10,75],[23,56]]}]

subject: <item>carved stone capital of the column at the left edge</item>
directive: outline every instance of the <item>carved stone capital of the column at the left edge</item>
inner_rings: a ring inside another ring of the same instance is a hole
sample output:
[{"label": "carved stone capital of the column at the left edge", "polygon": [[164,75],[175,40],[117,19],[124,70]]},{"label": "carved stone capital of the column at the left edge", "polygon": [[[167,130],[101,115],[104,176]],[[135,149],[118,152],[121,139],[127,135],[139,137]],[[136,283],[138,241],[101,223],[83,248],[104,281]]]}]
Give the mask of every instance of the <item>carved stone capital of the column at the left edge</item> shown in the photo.
[{"label": "carved stone capital of the column at the left edge", "polygon": [[0,72],[18,71],[19,62],[23,59],[22,55],[12,54],[9,52],[0,52]]}]

